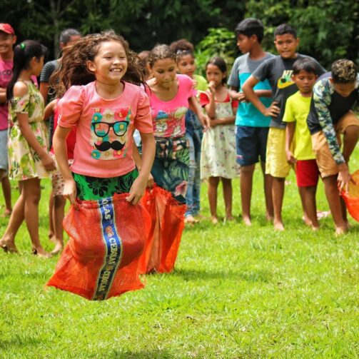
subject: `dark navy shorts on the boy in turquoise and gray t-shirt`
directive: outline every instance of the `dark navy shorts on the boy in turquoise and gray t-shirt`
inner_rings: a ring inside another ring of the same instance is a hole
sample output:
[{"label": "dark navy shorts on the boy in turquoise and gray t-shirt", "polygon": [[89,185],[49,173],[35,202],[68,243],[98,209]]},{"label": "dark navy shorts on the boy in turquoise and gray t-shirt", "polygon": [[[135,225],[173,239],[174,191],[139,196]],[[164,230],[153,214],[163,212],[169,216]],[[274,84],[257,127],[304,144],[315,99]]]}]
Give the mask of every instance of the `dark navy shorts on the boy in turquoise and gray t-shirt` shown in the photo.
[{"label": "dark navy shorts on the boy in turquoise and gray t-shirt", "polygon": [[259,161],[266,162],[268,127],[236,126],[237,163],[251,166]]}]

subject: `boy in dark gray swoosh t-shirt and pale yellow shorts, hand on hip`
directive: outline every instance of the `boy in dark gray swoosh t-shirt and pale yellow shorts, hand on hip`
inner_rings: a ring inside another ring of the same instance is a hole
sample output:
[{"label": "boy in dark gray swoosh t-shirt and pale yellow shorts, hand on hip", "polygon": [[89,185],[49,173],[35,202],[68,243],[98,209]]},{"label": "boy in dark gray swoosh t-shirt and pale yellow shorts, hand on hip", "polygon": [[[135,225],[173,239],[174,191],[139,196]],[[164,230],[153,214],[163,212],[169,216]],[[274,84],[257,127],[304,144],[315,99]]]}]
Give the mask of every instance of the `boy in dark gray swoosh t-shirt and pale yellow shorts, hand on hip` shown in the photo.
[{"label": "boy in dark gray swoosh t-shirt and pale yellow shorts, hand on hip", "polygon": [[[278,56],[269,59],[253,72],[251,77],[243,84],[243,92],[248,101],[251,101],[258,110],[265,116],[271,116],[270,129],[268,133],[267,153],[266,153],[266,174],[273,178],[272,198],[274,208],[274,228],[283,231],[282,205],[284,196],[284,181],[288,176],[291,165],[287,163],[285,156],[285,122],[283,115],[285,101],[296,91],[298,87],[292,80],[293,64],[298,59],[308,56],[297,54],[299,45],[295,29],[287,24],[281,24],[274,31],[275,49]],[[313,59],[313,61],[315,61]],[[325,73],[318,62],[316,73],[321,75]],[[266,107],[259,101],[258,96],[253,91],[253,87],[259,81],[268,79],[273,89],[273,102]]]}]

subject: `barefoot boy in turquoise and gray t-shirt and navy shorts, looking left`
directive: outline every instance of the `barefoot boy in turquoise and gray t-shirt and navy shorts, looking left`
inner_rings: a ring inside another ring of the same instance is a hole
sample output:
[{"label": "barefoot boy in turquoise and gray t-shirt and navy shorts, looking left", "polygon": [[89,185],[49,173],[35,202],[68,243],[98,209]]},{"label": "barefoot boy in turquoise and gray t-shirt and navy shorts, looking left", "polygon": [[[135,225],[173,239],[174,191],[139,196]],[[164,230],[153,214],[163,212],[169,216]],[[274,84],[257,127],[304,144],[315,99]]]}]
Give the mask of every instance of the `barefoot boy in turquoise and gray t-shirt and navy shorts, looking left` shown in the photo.
[{"label": "barefoot boy in turquoise and gray t-shirt and navy shorts, looking left", "polygon": [[[264,61],[273,57],[263,51],[263,24],[257,19],[244,19],[235,29],[237,45],[242,52],[234,62],[228,85],[230,95],[240,101],[236,115],[236,147],[237,163],[241,165],[241,201],[243,222],[251,226],[251,195],[253,172],[258,159],[264,176],[264,195],[266,198],[266,217],[273,219],[273,203],[271,198],[271,178],[266,171],[266,146],[270,117],[260,113],[252,103],[246,101],[242,85]],[[270,106],[272,89],[268,80],[258,82],[255,91],[263,106]]]}]

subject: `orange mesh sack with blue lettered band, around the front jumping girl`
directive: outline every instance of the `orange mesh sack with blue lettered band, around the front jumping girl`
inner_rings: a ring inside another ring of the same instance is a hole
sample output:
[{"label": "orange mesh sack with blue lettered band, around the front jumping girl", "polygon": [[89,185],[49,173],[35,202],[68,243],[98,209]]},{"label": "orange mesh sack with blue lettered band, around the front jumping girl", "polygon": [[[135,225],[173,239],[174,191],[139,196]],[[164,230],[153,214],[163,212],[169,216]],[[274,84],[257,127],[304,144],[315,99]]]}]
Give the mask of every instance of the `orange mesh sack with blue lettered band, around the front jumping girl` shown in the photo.
[{"label": "orange mesh sack with blue lettered band, around the front jumping girl", "polygon": [[118,194],[98,201],[79,201],[64,218],[69,234],[55,273],[47,285],[89,300],[105,300],[143,288],[138,258],[151,225],[141,205]]}]

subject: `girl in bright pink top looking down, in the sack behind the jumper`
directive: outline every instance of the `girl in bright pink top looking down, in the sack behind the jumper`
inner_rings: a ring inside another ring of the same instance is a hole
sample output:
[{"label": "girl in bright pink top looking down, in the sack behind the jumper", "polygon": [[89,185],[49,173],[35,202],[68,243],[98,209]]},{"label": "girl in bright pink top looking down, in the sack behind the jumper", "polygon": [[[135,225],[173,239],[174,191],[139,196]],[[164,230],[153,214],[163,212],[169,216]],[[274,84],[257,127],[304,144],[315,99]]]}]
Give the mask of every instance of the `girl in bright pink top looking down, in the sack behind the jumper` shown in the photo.
[{"label": "girl in bright pink top looking down, in the sack behind the jumper", "polygon": [[[153,190],[158,196],[152,198],[158,206],[160,198],[162,202],[161,208],[157,208],[158,216],[153,217],[158,221],[158,232],[150,256],[153,264],[147,266],[146,272],[170,272],[176,261],[186,211],[189,147],[185,116],[188,108],[193,108],[204,128],[208,126],[208,118],[193,95],[193,81],[186,75],[177,74],[176,60],[176,54],[167,45],[156,46],[148,56],[148,67],[154,76],[148,81],[148,96],[156,138],[151,173],[158,185]],[[151,207],[151,200],[149,202]]]}]

